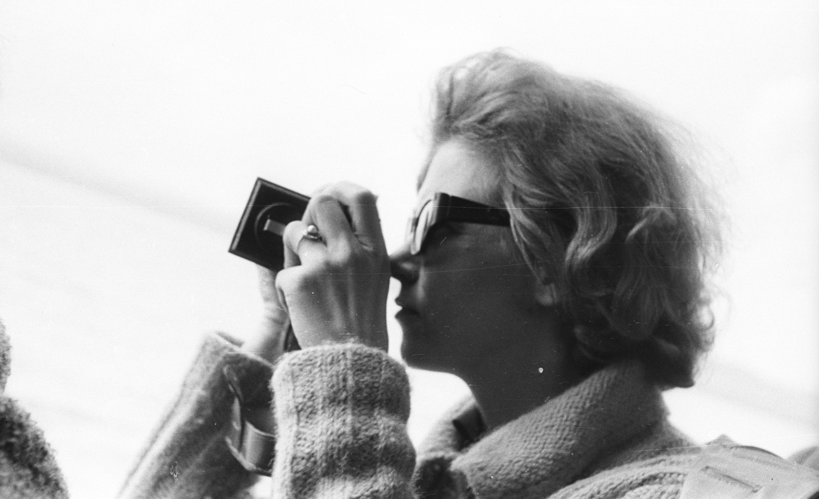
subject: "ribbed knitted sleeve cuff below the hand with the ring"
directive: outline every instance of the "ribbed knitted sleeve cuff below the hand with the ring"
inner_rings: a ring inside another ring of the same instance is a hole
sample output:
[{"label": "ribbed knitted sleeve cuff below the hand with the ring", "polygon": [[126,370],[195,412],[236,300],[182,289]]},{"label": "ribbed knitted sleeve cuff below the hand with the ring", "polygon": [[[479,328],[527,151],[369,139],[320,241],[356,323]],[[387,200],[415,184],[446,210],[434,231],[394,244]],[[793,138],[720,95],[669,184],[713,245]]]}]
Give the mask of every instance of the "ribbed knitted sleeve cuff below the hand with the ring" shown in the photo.
[{"label": "ribbed knitted sleeve cuff below the hand with the ring", "polygon": [[273,497],[409,498],[404,367],[361,345],[284,356],[273,378],[278,424]]}]

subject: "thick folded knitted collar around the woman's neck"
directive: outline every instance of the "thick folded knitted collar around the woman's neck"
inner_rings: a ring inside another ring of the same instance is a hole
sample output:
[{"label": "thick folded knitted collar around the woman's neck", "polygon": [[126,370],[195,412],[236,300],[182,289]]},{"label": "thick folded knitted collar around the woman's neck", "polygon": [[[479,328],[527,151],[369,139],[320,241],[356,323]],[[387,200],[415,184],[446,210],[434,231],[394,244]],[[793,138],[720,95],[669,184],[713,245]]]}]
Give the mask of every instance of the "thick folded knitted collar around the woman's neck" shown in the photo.
[{"label": "thick folded knitted collar around the woman's neck", "polygon": [[473,420],[468,399],[419,450],[419,476],[447,467],[479,499],[548,496],[666,415],[662,396],[636,361],[609,365],[471,447],[454,420]]}]

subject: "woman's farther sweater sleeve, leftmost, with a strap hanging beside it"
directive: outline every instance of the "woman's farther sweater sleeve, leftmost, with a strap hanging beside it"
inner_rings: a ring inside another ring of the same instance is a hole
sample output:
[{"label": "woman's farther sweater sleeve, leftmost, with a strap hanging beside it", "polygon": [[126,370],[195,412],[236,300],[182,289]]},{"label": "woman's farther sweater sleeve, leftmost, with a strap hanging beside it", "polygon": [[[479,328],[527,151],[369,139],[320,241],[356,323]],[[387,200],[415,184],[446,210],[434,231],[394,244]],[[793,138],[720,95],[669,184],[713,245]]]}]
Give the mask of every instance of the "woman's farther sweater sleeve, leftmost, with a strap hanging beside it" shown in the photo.
[{"label": "woman's farther sweater sleeve, leftmost, with a strap hanging beside it", "polygon": [[256,475],[239,465],[224,440],[234,397],[224,373],[229,370],[243,392],[269,400],[265,388],[273,366],[239,352],[238,347],[237,340],[222,333],[205,338],[179,396],[133,467],[120,497],[240,497],[256,482]]}]

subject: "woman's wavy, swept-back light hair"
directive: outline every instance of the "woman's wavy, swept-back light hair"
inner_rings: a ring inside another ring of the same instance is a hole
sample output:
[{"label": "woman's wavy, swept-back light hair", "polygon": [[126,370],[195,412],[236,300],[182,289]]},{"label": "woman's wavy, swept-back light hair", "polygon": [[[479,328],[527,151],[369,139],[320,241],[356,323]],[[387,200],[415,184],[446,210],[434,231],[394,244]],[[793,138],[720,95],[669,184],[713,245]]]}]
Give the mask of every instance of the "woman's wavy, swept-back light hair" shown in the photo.
[{"label": "woman's wavy, swept-back light hair", "polygon": [[519,256],[554,283],[590,369],[636,357],[690,386],[713,341],[713,194],[681,129],[607,84],[496,50],[437,80],[432,147],[467,141],[499,166]]}]

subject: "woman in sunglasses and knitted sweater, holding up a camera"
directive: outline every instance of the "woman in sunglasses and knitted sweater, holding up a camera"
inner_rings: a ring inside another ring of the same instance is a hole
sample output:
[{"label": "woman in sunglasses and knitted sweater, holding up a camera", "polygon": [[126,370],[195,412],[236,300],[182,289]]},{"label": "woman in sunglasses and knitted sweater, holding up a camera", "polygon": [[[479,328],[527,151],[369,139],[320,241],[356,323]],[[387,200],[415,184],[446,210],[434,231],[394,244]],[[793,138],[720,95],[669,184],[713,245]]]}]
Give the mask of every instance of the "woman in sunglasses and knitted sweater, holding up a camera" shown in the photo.
[{"label": "woman in sunglasses and knitted sweater, holding up a camera", "polygon": [[[268,327],[246,355],[210,340],[124,496],[246,488],[224,443],[237,392],[276,435],[273,497],[676,497],[698,451],[661,390],[690,386],[710,344],[717,238],[664,129],[604,84],[504,52],[444,70],[404,246],[387,257],[363,188],[314,196],[275,291],[263,279]],[[417,458],[385,353],[390,274],[407,364],[473,395]],[[288,320],[302,350],[283,355]]]}]

